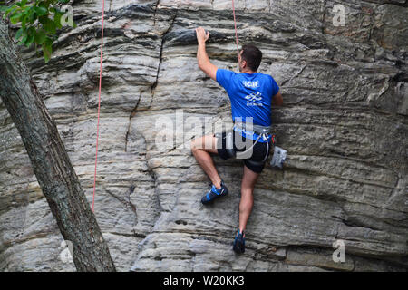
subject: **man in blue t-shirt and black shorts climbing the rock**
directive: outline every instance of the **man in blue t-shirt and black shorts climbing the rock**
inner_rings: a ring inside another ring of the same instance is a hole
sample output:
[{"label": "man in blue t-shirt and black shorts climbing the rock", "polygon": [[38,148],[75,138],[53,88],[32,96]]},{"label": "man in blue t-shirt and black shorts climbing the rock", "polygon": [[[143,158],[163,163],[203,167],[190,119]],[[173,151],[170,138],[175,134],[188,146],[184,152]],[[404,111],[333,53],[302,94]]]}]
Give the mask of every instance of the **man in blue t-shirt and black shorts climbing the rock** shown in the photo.
[{"label": "man in blue t-shirt and black shorts climbing the rock", "polygon": [[[272,140],[271,102],[278,106],[282,105],[282,95],[277,82],[270,75],[257,73],[262,59],[262,53],[257,47],[253,45],[242,47],[238,58],[239,73],[234,73],[219,69],[209,62],[206,52],[209,32],[206,33],[204,28],[199,27],[196,29],[196,36],[199,43],[197,52],[199,68],[228,92],[234,121],[234,129],[230,133],[206,135],[191,141],[194,157],[212,182],[211,189],[201,202],[206,205],[216,198],[228,195],[228,189],[219,177],[209,153],[219,154],[224,160],[233,156],[238,158],[241,154],[239,158],[244,159],[244,173],[239,203],[239,227],[233,250],[244,253],[245,230],[254,204],[253,191],[257,177],[264,169]],[[247,147],[238,146],[239,142],[247,144]]]}]

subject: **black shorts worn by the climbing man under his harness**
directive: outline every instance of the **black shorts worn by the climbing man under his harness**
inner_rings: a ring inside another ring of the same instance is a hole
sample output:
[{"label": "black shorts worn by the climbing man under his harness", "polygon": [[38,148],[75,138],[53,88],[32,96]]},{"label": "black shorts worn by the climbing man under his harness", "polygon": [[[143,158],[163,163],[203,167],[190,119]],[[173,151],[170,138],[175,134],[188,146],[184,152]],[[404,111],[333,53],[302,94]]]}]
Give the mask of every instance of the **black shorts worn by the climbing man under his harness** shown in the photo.
[{"label": "black shorts worn by the climbing man under his harness", "polygon": [[[245,142],[246,138],[240,136],[239,133],[236,131],[233,131],[233,134],[234,134],[234,144],[233,144],[234,151],[235,152],[245,151],[245,149],[241,149],[241,150],[237,149],[236,144],[235,144],[235,138],[236,138],[235,135],[238,134],[238,138],[241,138],[242,142]],[[221,138],[217,138],[217,150],[219,152],[219,157],[223,160],[228,160],[229,158],[231,158],[231,156],[228,154],[228,151],[227,151],[227,144],[226,144],[227,132],[223,132],[220,135],[221,135]],[[218,137],[215,134],[214,136]],[[252,146],[255,140],[251,140],[251,141],[252,141],[251,143],[251,146]],[[247,166],[248,169],[251,169],[252,171],[256,173],[261,173],[265,167],[265,163],[267,162],[267,157],[269,156],[270,147],[271,147],[271,142],[267,143],[267,142],[257,141],[257,144],[255,144],[254,148],[252,149],[253,150],[252,157],[247,160],[244,159],[245,166]],[[253,164],[250,162],[250,160],[257,161],[257,162],[260,162],[262,160],[265,160],[265,161],[263,161],[261,164]]]}]

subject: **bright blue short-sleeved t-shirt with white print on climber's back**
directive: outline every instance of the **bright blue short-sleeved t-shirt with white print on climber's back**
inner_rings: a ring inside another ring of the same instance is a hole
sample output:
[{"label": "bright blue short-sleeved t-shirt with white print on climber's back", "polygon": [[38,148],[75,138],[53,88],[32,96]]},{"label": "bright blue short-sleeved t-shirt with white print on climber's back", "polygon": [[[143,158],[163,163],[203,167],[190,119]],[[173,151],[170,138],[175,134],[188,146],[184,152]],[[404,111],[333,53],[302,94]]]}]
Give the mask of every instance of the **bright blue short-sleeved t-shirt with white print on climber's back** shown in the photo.
[{"label": "bright blue short-sleeved t-shirt with white print on climber's back", "polygon": [[[272,97],[279,92],[274,78],[264,73],[234,73],[218,69],[217,82],[227,91],[231,101],[232,120],[246,121],[252,117],[253,123],[271,125]],[[257,134],[250,137],[257,138]]]}]

